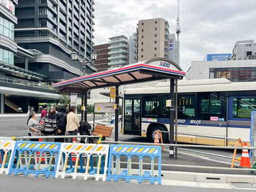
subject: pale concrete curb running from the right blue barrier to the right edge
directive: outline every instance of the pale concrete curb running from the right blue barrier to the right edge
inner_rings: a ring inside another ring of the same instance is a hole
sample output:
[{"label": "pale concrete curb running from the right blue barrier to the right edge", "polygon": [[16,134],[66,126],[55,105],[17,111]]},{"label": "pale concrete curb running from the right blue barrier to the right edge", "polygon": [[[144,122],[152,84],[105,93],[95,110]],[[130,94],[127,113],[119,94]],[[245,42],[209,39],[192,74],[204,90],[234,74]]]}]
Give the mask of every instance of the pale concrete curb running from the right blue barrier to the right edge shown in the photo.
[{"label": "pale concrete curb running from the right blue barrier to the right edge", "polygon": [[181,180],[181,181],[256,184],[256,175],[194,173],[194,172],[185,172],[185,171],[162,171],[162,175],[163,175],[162,179],[172,179],[172,180]]}]

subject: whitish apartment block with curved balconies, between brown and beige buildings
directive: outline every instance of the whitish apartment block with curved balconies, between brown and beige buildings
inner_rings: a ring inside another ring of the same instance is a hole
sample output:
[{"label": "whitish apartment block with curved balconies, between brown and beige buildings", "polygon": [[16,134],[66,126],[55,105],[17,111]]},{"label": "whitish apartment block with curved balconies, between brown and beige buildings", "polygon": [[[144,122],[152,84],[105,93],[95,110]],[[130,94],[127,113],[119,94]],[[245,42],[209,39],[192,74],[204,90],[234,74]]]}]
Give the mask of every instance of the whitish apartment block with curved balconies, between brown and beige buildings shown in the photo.
[{"label": "whitish apartment block with curved balconies, between brown and beige buildings", "polygon": [[128,64],[129,42],[126,36],[119,35],[109,38],[109,68]]}]

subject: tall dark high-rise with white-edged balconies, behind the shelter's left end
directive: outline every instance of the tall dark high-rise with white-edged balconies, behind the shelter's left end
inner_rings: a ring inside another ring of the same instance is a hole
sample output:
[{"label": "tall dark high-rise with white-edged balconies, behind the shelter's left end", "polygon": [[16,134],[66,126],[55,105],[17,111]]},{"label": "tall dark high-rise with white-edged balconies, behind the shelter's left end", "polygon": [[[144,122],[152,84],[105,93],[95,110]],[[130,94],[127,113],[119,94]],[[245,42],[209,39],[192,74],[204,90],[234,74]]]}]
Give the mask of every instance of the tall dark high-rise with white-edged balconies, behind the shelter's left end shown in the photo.
[{"label": "tall dark high-rise with white-edged balconies, behind the shelter's left end", "polygon": [[[20,0],[15,41],[35,54],[29,58],[29,70],[51,81],[82,75],[82,66],[70,55],[76,52],[80,60],[90,60],[94,5],[94,0]],[[94,71],[92,66],[86,69],[87,73]]]}]

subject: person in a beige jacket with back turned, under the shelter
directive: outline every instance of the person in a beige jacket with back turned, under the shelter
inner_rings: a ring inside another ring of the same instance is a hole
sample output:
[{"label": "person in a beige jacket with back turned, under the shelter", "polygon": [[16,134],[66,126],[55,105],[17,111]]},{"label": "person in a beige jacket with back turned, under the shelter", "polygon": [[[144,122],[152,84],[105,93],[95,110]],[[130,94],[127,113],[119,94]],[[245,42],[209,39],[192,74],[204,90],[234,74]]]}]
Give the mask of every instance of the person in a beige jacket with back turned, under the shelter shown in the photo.
[{"label": "person in a beige jacket with back turned, under the shelter", "polygon": [[[76,114],[76,106],[71,106],[67,115],[66,132],[68,135],[77,135],[80,126],[78,115]],[[72,138],[68,138],[66,142],[72,142]]]}]

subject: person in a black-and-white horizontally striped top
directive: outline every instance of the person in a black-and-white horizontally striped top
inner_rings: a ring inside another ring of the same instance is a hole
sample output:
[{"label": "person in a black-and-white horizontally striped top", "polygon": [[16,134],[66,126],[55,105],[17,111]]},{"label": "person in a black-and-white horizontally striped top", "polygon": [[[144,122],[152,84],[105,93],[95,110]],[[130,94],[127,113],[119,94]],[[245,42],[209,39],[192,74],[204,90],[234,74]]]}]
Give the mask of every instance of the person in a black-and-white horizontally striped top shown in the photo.
[{"label": "person in a black-and-white horizontally striped top", "polygon": [[[48,114],[42,117],[39,129],[42,132],[42,136],[54,136],[55,132],[61,132],[57,126],[57,116],[55,109],[50,109]],[[54,142],[54,138],[42,138],[42,141]]]}]

